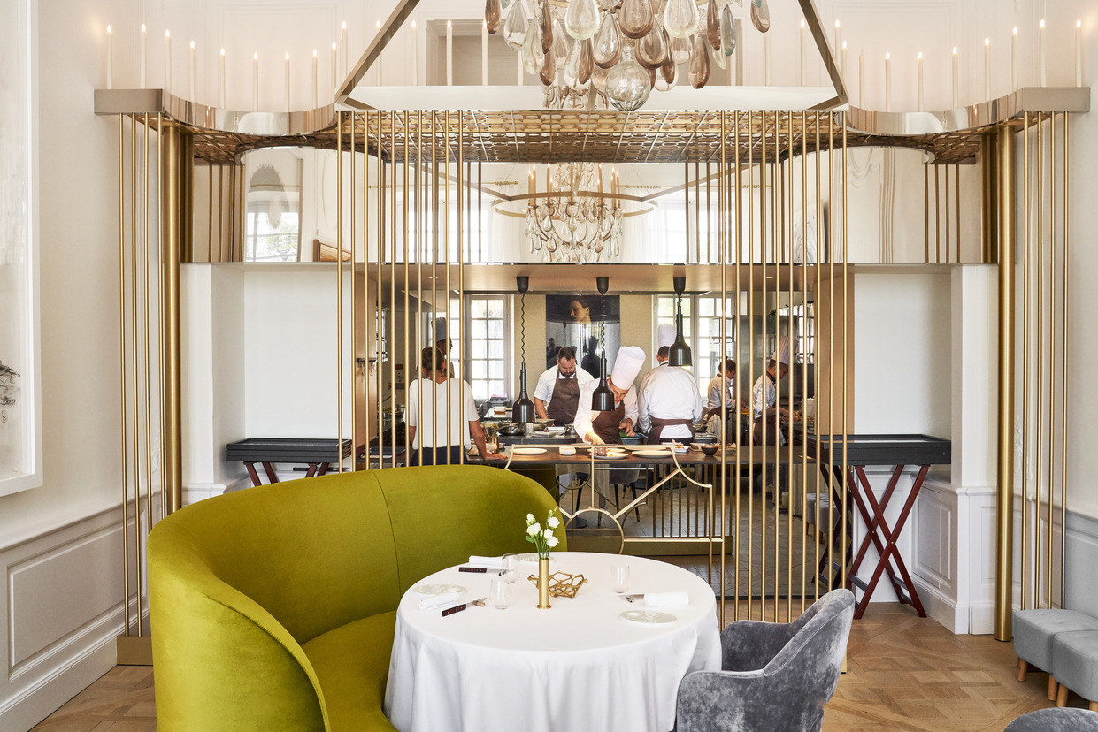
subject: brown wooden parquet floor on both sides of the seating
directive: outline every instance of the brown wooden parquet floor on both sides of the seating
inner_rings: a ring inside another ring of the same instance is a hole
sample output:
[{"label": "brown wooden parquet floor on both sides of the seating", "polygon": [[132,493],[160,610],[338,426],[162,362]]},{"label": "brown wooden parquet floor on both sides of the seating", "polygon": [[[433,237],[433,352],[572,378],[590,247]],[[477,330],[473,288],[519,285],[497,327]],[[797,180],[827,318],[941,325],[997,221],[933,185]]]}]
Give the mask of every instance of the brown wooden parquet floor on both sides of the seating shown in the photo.
[{"label": "brown wooden parquet floor on both sides of the seating", "polygon": [[[847,673],[824,718],[828,731],[1001,730],[1019,714],[1052,706],[1045,674],[1015,679],[1010,643],[953,635],[908,607],[871,606],[854,622],[848,649]],[[1068,703],[1085,706],[1075,696]],[[34,729],[152,732],[153,669],[115,666]]]}]

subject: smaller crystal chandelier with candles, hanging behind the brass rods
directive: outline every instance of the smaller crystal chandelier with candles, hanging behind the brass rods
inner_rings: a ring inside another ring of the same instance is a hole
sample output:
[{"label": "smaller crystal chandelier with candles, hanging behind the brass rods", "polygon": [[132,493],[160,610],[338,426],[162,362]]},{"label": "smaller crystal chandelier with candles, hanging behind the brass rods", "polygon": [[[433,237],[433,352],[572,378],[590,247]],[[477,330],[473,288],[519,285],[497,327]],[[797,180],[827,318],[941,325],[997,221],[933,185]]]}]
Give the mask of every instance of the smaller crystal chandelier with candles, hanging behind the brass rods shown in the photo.
[{"label": "smaller crystal chandelier with candles, hanging behind the brass rods", "polygon": [[617,173],[610,173],[608,195],[603,193],[602,166],[594,162],[553,162],[547,178],[546,190],[539,194],[537,176],[530,170],[526,238],[531,251],[557,262],[596,262],[604,254],[619,256],[625,213]]}]

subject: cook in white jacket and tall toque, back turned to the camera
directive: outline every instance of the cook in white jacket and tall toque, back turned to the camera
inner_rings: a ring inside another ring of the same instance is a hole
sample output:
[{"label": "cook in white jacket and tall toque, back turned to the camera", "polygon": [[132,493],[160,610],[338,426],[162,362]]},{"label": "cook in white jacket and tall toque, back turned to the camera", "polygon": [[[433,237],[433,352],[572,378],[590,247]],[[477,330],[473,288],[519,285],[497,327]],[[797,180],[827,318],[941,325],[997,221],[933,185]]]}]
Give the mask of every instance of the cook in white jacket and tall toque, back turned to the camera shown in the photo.
[{"label": "cook in white jacket and tall toque, back turned to the camera", "polygon": [[[663,350],[666,348],[662,344],[666,331],[662,325],[660,329],[658,337],[660,350]],[[670,336],[674,342],[674,327],[670,328]],[[697,391],[694,374],[682,367],[671,365],[665,358],[661,360],[657,353],[660,364],[645,374],[641,381],[637,397],[640,429],[648,432],[649,444],[690,444],[694,441],[694,423],[702,418],[702,394]]]}]

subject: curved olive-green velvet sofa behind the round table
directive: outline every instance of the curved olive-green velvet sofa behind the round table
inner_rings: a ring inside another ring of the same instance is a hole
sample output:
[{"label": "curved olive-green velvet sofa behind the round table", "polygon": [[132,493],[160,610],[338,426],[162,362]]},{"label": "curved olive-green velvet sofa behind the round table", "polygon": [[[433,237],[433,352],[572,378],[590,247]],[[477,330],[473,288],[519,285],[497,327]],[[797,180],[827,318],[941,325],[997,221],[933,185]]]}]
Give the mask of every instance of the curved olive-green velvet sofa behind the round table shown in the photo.
[{"label": "curved olive-green velvet sofa behind the round table", "polygon": [[470,554],[529,551],[526,515],[553,509],[522,475],[439,465],[264,485],[172,514],[148,539],[157,729],[392,730],[382,702],[402,594]]}]

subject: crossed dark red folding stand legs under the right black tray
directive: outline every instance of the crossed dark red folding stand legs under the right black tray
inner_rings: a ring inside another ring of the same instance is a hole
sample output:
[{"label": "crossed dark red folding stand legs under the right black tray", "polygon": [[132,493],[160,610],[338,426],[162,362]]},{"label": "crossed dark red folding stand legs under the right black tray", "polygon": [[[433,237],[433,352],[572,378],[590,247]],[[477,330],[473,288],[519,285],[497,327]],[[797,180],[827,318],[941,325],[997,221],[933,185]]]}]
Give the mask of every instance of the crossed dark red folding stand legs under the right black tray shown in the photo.
[{"label": "crossed dark red folding stand legs under the right black tray", "polygon": [[[908,573],[907,566],[904,564],[904,559],[899,554],[899,548],[896,545],[896,540],[899,539],[899,534],[904,530],[905,523],[907,523],[908,516],[911,514],[911,508],[915,506],[915,499],[919,496],[919,491],[922,488],[922,481],[927,477],[927,471],[930,470],[930,466],[920,466],[919,474],[916,476],[915,483],[911,485],[911,491],[907,496],[907,500],[904,502],[904,508],[900,510],[899,517],[896,519],[896,526],[895,528],[889,529],[888,522],[885,520],[885,509],[888,506],[888,500],[892,498],[893,492],[896,488],[896,483],[899,480],[899,474],[903,470],[904,465],[897,465],[894,470],[893,477],[888,482],[888,487],[885,489],[885,495],[882,497],[881,504],[877,504],[876,496],[873,495],[873,488],[870,485],[870,481],[865,476],[865,471],[862,466],[858,466],[856,471],[859,477],[861,478],[861,488],[865,492],[864,500],[860,495],[858,482],[851,477],[853,488],[851,494],[854,497],[854,502],[858,504],[859,511],[862,514],[862,519],[865,521],[866,537],[862,541],[862,545],[859,549],[858,558],[851,565],[850,575],[848,575],[848,585],[854,578],[854,575],[865,556],[865,552],[869,549],[869,542],[872,541],[879,553],[877,566],[874,568],[873,576],[870,578],[869,584],[865,585],[862,599],[858,604],[858,608],[854,610],[855,618],[861,618],[865,613],[865,608],[869,607],[870,598],[873,596],[873,590],[876,589],[877,583],[881,581],[881,575],[884,574],[885,571],[888,572],[888,578],[896,588],[896,595],[899,597],[900,601],[911,605],[916,612],[919,613],[920,618],[927,617],[926,610],[922,609],[922,603],[919,601],[919,594],[915,589],[915,583],[911,581],[911,575]],[[866,504],[869,505],[866,506]],[[878,531],[881,536],[877,536]],[[881,537],[884,537],[884,542],[882,542]],[[899,573],[900,577],[903,577],[903,584],[893,571],[892,562],[896,563],[896,571]],[[908,597],[904,596],[905,589],[907,590]]]}]

